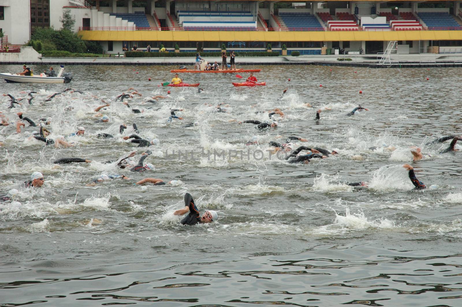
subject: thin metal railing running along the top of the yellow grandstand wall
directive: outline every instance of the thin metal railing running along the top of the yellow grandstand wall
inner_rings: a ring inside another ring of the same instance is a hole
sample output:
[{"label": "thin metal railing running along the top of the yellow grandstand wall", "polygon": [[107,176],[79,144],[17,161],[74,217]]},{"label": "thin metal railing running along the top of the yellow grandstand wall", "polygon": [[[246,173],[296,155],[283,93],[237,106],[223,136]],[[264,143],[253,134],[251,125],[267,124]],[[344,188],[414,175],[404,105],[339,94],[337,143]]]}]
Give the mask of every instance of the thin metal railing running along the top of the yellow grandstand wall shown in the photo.
[{"label": "thin metal railing running along the top of the yellow grandstand wall", "polygon": [[[249,30],[249,28],[244,28],[244,27],[190,27],[188,28],[182,28],[182,27],[79,27],[79,31],[249,31],[249,32],[254,32],[254,31],[264,31],[265,28],[251,28],[252,30]],[[255,30],[254,30],[255,29]],[[349,29],[336,29],[336,28],[289,28],[289,27],[280,27],[280,28],[273,28],[274,31],[331,31],[331,32],[337,32],[337,31],[363,31],[363,32],[383,32],[383,31],[404,31],[401,29],[394,29],[394,28],[352,28],[354,30],[349,30]],[[412,29],[412,27],[409,27],[407,29]],[[460,31],[462,30],[462,27],[423,27],[422,29],[416,28],[415,30],[457,30]],[[409,31],[415,31],[409,30]]]}]

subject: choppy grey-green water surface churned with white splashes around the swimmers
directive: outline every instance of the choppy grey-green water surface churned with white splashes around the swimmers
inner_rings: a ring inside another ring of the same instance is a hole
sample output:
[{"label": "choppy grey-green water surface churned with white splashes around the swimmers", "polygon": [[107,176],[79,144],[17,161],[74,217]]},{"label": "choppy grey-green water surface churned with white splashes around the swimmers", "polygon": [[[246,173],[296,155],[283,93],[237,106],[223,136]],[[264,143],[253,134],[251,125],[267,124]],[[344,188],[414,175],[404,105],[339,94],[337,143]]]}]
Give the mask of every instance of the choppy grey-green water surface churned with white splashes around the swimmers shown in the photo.
[{"label": "choppy grey-green water surface churned with white splashes around the swimmers", "polygon": [[[21,134],[14,125],[0,129],[1,194],[34,171],[46,180],[0,205],[0,306],[461,306],[462,153],[438,154],[449,142],[425,145],[462,134],[460,69],[264,66],[257,78],[268,85],[258,88],[234,88],[234,75],[184,74],[205,92],[169,88],[170,99],[145,103],[166,94],[157,85],[172,78],[171,68],[67,66],[74,75],[70,86],[89,94],[51,102],[44,100],[66,85],[0,84],[1,92],[17,98],[27,96],[23,90],[38,92],[33,105],[24,101],[14,109],[0,96],[11,122],[18,111],[36,121],[48,117],[52,137],[78,142],[55,149],[28,140],[38,128]],[[98,98],[114,100],[128,87],[143,94],[129,103],[144,112],[113,102],[101,111],[110,122],[94,123]],[[213,112],[220,102],[229,104],[229,113]],[[346,117],[359,103],[369,111]],[[286,115],[269,132],[235,121],[269,120],[255,112],[276,107]],[[184,120],[168,123],[170,108],[184,108]],[[194,121],[199,125],[182,127]],[[123,135],[121,123],[129,127]],[[144,138],[160,140],[145,161],[154,171],[134,174],[103,164],[131,150],[137,160],[146,150],[122,139],[133,132],[132,123]],[[85,126],[85,136],[67,137],[78,126]],[[99,132],[114,138],[97,138]],[[270,159],[267,142],[288,136],[339,155],[308,165]],[[249,140],[261,143],[246,146]],[[412,145],[431,157],[412,163]],[[173,157],[173,150],[188,157]],[[214,158],[223,150],[225,158]],[[238,150],[242,158],[229,157]],[[263,158],[254,156],[257,150]],[[93,162],[53,164],[61,157]],[[404,163],[427,186],[437,186],[412,191]],[[100,174],[132,180],[86,186]],[[133,185],[145,177],[180,181]],[[369,187],[355,190],[348,181]],[[185,192],[202,210],[218,211],[219,223],[181,226],[173,211]]]}]

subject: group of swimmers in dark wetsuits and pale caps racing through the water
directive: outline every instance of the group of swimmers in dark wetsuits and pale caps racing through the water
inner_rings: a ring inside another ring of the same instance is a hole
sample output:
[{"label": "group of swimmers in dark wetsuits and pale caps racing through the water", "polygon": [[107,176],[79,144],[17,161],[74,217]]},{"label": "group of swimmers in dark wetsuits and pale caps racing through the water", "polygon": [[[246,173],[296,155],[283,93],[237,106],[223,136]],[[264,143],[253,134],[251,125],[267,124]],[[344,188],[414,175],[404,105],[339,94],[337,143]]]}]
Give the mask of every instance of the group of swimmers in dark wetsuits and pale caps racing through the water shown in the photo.
[{"label": "group of swimmers in dark wetsuits and pale caps racing through the water", "polygon": [[[256,82],[256,78],[253,77],[253,75],[251,75],[249,77],[248,81]],[[178,78],[177,74],[175,75],[175,78],[172,79],[173,84],[178,84],[178,83],[181,83],[181,82],[182,82],[182,80],[180,78]],[[282,96],[284,96],[286,94],[286,91],[287,91],[287,89],[285,89],[283,91]],[[79,91],[79,90],[73,90],[73,89],[69,88],[69,89],[65,89],[65,90],[63,90],[61,92],[58,92],[58,93],[55,93],[53,95],[48,96],[47,99],[44,100],[44,101],[50,101],[53,98],[55,98],[56,96],[65,95],[66,92],[70,92],[70,93],[77,92],[77,93],[80,93],[80,94],[88,94],[88,93],[84,93],[84,92]],[[199,89],[198,92],[201,93],[201,89]],[[22,101],[24,99],[27,99],[29,104],[32,104],[31,101],[34,98],[34,96],[32,96],[32,94],[36,93],[36,92],[30,91],[30,92],[24,92],[24,93],[27,93],[27,96],[29,96],[29,98],[16,99],[11,94],[3,94],[3,96],[8,96],[10,98],[10,100],[9,100],[10,108],[14,108],[15,107],[14,104],[20,106],[21,105],[20,101]],[[155,102],[157,102],[158,99],[168,99],[170,97],[169,95],[170,95],[170,91],[168,92],[167,96],[161,96],[161,95],[153,96],[147,102],[155,103]],[[142,94],[140,94],[137,90],[134,90],[134,88],[129,88],[127,91],[124,91],[122,94],[116,96],[113,103],[116,103],[116,102],[120,101],[125,106],[130,108],[133,113],[142,113],[142,111],[140,111],[139,109],[133,109],[128,104],[127,100],[131,99],[131,98],[134,98],[134,96],[142,96]],[[98,99],[98,97],[93,96],[93,95],[91,95],[91,97],[94,98],[94,99]],[[96,122],[107,123],[107,122],[109,122],[109,116],[106,115],[106,114],[101,114],[100,111],[101,110],[104,111],[105,109],[109,108],[111,106],[111,104],[107,103],[103,99],[101,99],[101,101],[104,104],[94,109],[94,112],[96,112],[95,116],[100,117],[100,119],[98,119]],[[210,106],[212,106],[212,105],[210,104]],[[216,106],[214,111],[219,112],[219,113],[227,113],[228,111],[225,108],[223,108],[224,106],[226,106],[224,103],[220,103],[219,105]],[[72,109],[72,107],[69,107],[69,108]],[[326,108],[326,109],[328,109],[328,108]],[[359,112],[363,111],[363,110],[364,111],[369,111],[367,108],[363,108],[363,107],[361,107],[359,105],[357,108],[354,108],[351,112],[348,112],[346,115],[347,116],[356,115],[356,114],[359,114]],[[170,116],[167,119],[167,121],[172,121],[173,119],[183,120],[182,117],[178,116],[178,114],[175,113],[175,112],[181,112],[181,111],[183,111],[183,109],[170,109]],[[265,112],[265,111],[257,111],[255,113],[259,114],[259,113],[262,113],[262,112]],[[249,120],[239,121],[238,124],[245,124],[245,123],[254,124],[254,125],[256,125],[256,128],[258,130],[263,131],[263,130],[268,130],[268,129],[271,129],[271,128],[278,127],[279,123],[276,120],[273,119],[275,116],[278,116],[280,118],[283,118],[285,116],[284,112],[280,108],[270,109],[270,110],[268,110],[266,112],[268,113],[268,118],[271,120],[270,122],[261,122],[259,120],[249,119]],[[317,120],[317,121],[321,120],[321,117],[320,117],[321,112],[322,112],[321,109],[318,109],[316,111],[315,120]],[[16,132],[17,133],[21,133],[21,128],[25,127],[25,123],[28,123],[29,127],[32,126],[32,127],[39,128],[38,132],[32,132],[31,133],[30,138],[35,138],[35,139],[37,139],[39,141],[42,141],[46,145],[53,145],[55,148],[61,148],[61,147],[67,148],[67,147],[72,147],[72,146],[74,146],[76,144],[76,142],[74,140],[71,140],[71,141],[67,142],[63,136],[57,136],[54,139],[49,138],[50,132],[49,132],[49,129],[47,129],[47,126],[50,125],[51,120],[46,119],[46,118],[42,118],[42,119],[34,121],[34,120],[31,120],[28,116],[24,116],[23,112],[17,112],[16,114],[18,116],[18,121],[14,125],[16,127]],[[1,124],[0,124],[1,126],[9,126],[10,124],[13,124],[4,114],[0,113],[0,117],[1,117]],[[188,124],[188,125],[186,125],[184,127],[194,127],[194,126],[197,126],[197,125],[198,125],[198,123],[194,122],[194,123],[190,123],[190,124]],[[156,138],[149,140],[149,139],[141,137],[140,136],[140,134],[141,134],[140,130],[138,129],[138,127],[137,127],[137,125],[135,123],[133,123],[132,126],[133,126],[133,131],[136,132],[136,134],[132,133],[132,134],[129,134],[129,135],[125,135],[125,136],[122,137],[123,140],[127,140],[127,141],[129,141],[131,143],[138,144],[138,147],[150,147],[152,145],[159,144],[159,140],[156,139]],[[119,133],[123,134],[125,132],[125,130],[127,130],[127,128],[128,128],[128,126],[126,124],[120,125]],[[75,132],[71,133],[69,136],[83,136],[83,135],[85,135],[85,128],[83,126],[79,126],[77,128],[77,130]],[[112,138],[113,136],[110,135],[110,134],[107,134],[107,133],[98,133],[97,137],[100,137],[100,138]],[[461,139],[462,139],[462,136],[451,135],[451,136],[447,136],[447,137],[443,137],[443,138],[438,138],[437,140],[432,141],[432,142],[427,143],[427,144],[437,144],[437,143],[443,143],[445,141],[451,140],[451,143],[450,143],[449,147],[447,149],[441,151],[441,153],[446,153],[446,152],[450,152],[450,151],[457,151],[457,149],[455,149],[455,145],[456,145],[456,142],[458,140],[461,140]],[[285,139],[285,143],[278,143],[276,141],[270,141],[268,143],[268,145],[273,148],[273,153],[275,153],[275,152],[277,152],[279,150],[284,150],[287,153],[286,154],[287,163],[291,163],[291,164],[295,164],[295,163],[307,164],[307,163],[310,163],[310,160],[313,159],[313,158],[325,159],[325,158],[328,158],[330,155],[338,154],[338,152],[336,150],[327,150],[327,149],[324,149],[324,148],[321,148],[321,147],[303,146],[303,145],[302,146],[296,146],[294,141],[295,142],[307,142],[307,139],[301,138],[301,137],[290,136],[290,137]],[[245,145],[255,145],[255,144],[259,144],[259,141],[251,140],[251,141],[248,141],[247,143],[245,143]],[[1,145],[1,143],[0,143],[0,145]],[[370,149],[375,150],[376,148],[371,147]],[[305,151],[305,153],[302,153],[302,151]],[[420,159],[422,159],[424,157],[424,155],[421,153],[421,149],[417,148],[417,147],[412,147],[411,148],[411,153],[413,155],[413,161],[418,161],[418,160],[420,160]],[[114,163],[117,168],[129,170],[131,172],[152,171],[152,170],[155,169],[154,165],[152,163],[145,163],[146,158],[150,154],[151,154],[151,152],[149,150],[146,150],[145,152],[141,153],[140,158],[139,158],[137,163],[134,160],[131,159],[132,157],[134,157],[136,155],[136,151],[131,152],[130,154],[128,154],[127,157],[121,157],[118,160],[107,161],[107,162],[103,162],[103,163]],[[91,161],[88,160],[88,159],[84,159],[84,158],[70,157],[70,158],[56,159],[54,161],[54,163],[55,164],[91,163]],[[412,182],[415,189],[420,190],[420,189],[425,189],[426,188],[426,185],[423,182],[421,182],[421,181],[419,181],[417,179],[417,177],[416,177],[416,175],[414,173],[413,167],[411,165],[404,164],[403,168],[405,168],[408,171],[408,177],[411,180],[411,182]],[[130,178],[128,176],[126,176],[126,175],[101,174],[101,175],[97,175],[95,178],[93,178],[91,183],[88,184],[88,186],[93,186],[93,185],[96,185],[96,184],[101,183],[103,181],[109,181],[109,180],[118,179],[118,178],[120,178],[122,180],[130,180]],[[40,188],[40,187],[43,186],[43,183],[44,183],[43,174],[40,173],[40,172],[34,172],[34,173],[32,173],[30,175],[30,178],[29,178],[28,181],[24,181],[22,186],[24,188],[26,188],[26,187],[27,188]],[[154,186],[160,186],[160,185],[165,185],[165,184],[175,184],[175,181],[168,181],[166,183],[163,180],[157,179],[157,178],[144,178],[144,179],[142,179],[140,181],[137,181],[134,184],[135,185],[151,184],[151,185],[154,185]],[[347,182],[346,184],[349,185],[349,186],[352,186],[352,187],[367,187],[367,185],[368,185],[368,183],[365,182],[365,181]],[[0,201],[10,200],[17,193],[18,193],[18,189],[11,189],[10,191],[8,191],[3,196],[0,196]],[[194,225],[194,224],[197,224],[197,223],[211,223],[211,222],[214,222],[214,221],[218,220],[218,214],[217,214],[216,211],[213,211],[213,210],[207,210],[207,211],[205,211],[205,213],[203,215],[201,215],[200,210],[195,205],[193,197],[189,193],[186,193],[184,195],[184,204],[185,205],[184,205],[184,207],[182,209],[176,210],[174,212],[175,215],[184,215],[184,214],[188,213],[188,215],[182,219],[182,221],[181,221],[182,224]]]}]

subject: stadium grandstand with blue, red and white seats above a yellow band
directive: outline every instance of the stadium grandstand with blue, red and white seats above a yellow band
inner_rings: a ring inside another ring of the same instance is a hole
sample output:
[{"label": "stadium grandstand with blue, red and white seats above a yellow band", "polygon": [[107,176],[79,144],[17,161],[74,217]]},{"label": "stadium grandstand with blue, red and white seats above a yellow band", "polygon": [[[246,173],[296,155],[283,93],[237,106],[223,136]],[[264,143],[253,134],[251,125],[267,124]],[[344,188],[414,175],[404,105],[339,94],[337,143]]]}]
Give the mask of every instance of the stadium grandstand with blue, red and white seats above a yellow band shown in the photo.
[{"label": "stadium grandstand with blue, red and white seats above a yellow band", "polygon": [[[20,3],[19,3],[20,2]],[[30,18],[23,16],[28,3]],[[462,53],[460,1],[202,1],[24,0],[0,1],[0,29],[24,44],[37,27],[59,29],[63,10],[74,30],[108,53],[228,50],[287,54],[383,52],[396,41],[400,53]],[[0,50],[1,51],[1,50]]]}]

